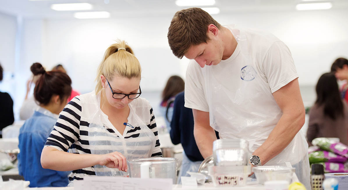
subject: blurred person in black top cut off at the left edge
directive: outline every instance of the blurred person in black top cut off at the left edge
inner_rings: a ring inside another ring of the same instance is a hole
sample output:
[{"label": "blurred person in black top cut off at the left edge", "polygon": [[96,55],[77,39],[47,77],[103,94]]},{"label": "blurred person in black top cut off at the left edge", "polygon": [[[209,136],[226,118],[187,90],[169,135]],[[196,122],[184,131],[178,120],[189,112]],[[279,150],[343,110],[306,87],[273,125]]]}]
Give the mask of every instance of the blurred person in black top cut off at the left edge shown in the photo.
[{"label": "blurred person in black top cut off at the left edge", "polygon": [[[3,77],[3,69],[0,65],[0,82]],[[13,100],[10,94],[6,92],[0,92],[0,131],[8,126],[13,124],[15,118],[13,116]],[[2,135],[0,133],[0,138]]]}]

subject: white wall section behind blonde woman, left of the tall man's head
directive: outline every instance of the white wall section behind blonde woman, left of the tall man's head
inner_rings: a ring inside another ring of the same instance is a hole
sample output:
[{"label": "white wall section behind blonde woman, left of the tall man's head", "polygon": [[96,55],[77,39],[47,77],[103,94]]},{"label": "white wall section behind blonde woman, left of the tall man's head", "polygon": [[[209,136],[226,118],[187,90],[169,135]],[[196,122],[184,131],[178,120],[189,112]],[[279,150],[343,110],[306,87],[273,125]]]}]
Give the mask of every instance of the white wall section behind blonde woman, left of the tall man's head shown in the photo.
[{"label": "white wall section behind blonde woman, left of the tall man's head", "polygon": [[172,74],[184,76],[167,43],[171,18],[128,18],[97,20],[50,20],[46,23],[43,63],[62,63],[73,87],[92,91],[96,69],[106,48],[123,39],[133,48],[142,65],[142,89],[161,90]]}]

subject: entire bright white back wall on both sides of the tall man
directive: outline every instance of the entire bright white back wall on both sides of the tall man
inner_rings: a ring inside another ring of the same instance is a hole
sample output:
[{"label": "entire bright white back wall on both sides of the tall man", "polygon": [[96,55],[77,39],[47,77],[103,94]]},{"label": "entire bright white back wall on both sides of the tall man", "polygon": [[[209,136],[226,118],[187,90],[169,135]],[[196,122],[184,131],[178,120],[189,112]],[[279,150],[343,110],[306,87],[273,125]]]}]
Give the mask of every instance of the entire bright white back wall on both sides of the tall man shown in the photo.
[{"label": "entire bright white back wall on both sides of the tall man", "polygon": [[[174,14],[174,13],[173,13]],[[267,30],[290,48],[300,76],[304,101],[313,101],[314,85],[337,57],[348,57],[348,11],[291,11],[213,15],[221,24]],[[1,15],[0,15],[1,19]],[[16,101],[23,100],[29,67],[39,61],[47,69],[62,63],[81,93],[94,89],[96,68],[105,49],[124,39],[143,69],[142,90],[161,91],[173,74],[184,77],[186,59],[177,59],[168,46],[170,16],[110,19],[24,19]],[[2,31],[0,31],[2,32]],[[1,36],[0,36],[1,39]],[[0,52],[1,53],[1,52]],[[1,54],[0,54],[1,55]],[[157,104],[157,103],[156,103]]]}]

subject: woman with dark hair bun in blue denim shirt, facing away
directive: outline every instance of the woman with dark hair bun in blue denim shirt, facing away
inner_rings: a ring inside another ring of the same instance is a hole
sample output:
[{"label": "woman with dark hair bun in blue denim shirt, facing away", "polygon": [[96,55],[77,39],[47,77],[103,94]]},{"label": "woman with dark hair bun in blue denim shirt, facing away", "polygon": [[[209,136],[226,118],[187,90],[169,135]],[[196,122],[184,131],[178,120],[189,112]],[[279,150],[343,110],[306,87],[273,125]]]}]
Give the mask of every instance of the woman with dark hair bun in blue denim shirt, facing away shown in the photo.
[{"label": "woman with dark hair bun in blue denim shirt, facing away", "polygon": [[46,72],[39,63],[33,64],[31,71],[35,76],[40,75],[34,88],[34,98],[39,108],[19,130],[19,175],[30,181],[29,187],[65,187],[70,172],[44,169],[40,157],[58,114],[71,94],[71,79],[62,72]]}]

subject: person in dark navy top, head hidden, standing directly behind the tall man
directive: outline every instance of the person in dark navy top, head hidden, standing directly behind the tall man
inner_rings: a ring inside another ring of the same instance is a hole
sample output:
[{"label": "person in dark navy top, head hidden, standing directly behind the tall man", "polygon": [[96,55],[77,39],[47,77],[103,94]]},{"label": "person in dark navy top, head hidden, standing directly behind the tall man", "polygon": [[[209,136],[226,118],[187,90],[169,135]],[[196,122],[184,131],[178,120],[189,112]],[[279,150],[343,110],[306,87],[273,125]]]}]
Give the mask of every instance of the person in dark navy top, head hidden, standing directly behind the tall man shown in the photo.
[{"label": "person in dark navy top, head hidden, standing directly behind the tall man", "polygon": [[[186,172],[198,172],[199,165],[204,158],[199,152],[193,135],[193,114],[192,109],[184,107],[184,92],[180,92],[175,97],[173,117],[171,122],[170,136],[173,144],[182,144],[182,164],[178,177],[178,184],[181,183],[181,176],[190,176]],[[216,132],[219,139],[219,133]]]}]

